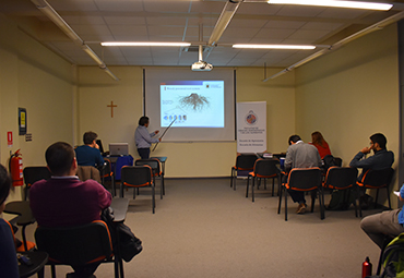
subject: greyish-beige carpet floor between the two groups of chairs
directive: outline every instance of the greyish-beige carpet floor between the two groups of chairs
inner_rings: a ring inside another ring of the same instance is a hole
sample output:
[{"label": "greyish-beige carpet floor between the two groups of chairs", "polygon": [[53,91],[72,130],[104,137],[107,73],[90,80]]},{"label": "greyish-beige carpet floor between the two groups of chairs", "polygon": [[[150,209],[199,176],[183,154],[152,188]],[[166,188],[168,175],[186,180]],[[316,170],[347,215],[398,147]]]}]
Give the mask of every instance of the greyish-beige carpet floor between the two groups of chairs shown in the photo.
[{"label": "greyish-beige carpet floor between the two groups of chairs", "polygon": [[[143,241],[143,252],[124,263],[126,277],[357,278],[366,256],[376,271],[380,251],[361,231],[353,207],[326,210],[321,220],[318,203],[314,213],[297,215],[289,198],[285,221],[284,203],[278,215],[271,188],[261,185],[252,203],[245,196],[245,180],[234,191],[229,179],[166,179],[166,195],[159,200],[157,190],[154,215],[151,193],[143,189],[130,201],[126,219]],[[132,197],[131,190],[126,197]],[[364,216],[379,211],[365,210]],[[27,229],[31,239],[34,229]],[[69,271],[68,266],[57,267],[59,278]],[[95,275],[114,277],[114,265],[103,264]],[[50,277],[48,266],[45,277]]]}]

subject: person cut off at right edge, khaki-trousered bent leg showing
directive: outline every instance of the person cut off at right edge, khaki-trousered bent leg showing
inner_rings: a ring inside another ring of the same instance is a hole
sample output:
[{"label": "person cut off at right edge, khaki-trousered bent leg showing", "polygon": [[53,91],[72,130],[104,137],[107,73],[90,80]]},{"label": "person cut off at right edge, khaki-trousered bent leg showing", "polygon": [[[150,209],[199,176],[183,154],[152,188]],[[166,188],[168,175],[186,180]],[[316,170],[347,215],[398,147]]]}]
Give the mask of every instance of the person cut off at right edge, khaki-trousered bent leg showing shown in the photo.
[{"label": "person cut off at right edge, khaki-trousered bent leg showing", "polygon": [[[404,184],[400,190],[400,201],[404,202]],[[404,206],[394,210],[385,210],[381,214],[370,215],[361,219],[360,228],[380,249],[383,247],[384,237],[397,237],[404,232]]]}]

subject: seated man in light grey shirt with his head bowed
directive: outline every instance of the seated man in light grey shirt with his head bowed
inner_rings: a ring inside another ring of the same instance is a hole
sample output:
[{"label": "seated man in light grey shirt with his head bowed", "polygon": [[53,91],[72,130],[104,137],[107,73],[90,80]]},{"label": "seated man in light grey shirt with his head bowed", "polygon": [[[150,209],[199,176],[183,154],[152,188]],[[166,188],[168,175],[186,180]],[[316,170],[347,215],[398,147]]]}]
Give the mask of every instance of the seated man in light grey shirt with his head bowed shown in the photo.
[{"label": "seated man in light grey shirt with his head bowed", "polygon": [[[288,143],[289,147],[287,148],[285,158],[286,172],[289,172],[293,168],[311,168],[321,166],[319,150],[317,150],[313,145],[304,143],[299,135],[292,135]],[[299,203],[296,213],[304,214],[307,207],[305,192],[294,190],[289,190],[288,192],[292,200],[295,203]]]}]

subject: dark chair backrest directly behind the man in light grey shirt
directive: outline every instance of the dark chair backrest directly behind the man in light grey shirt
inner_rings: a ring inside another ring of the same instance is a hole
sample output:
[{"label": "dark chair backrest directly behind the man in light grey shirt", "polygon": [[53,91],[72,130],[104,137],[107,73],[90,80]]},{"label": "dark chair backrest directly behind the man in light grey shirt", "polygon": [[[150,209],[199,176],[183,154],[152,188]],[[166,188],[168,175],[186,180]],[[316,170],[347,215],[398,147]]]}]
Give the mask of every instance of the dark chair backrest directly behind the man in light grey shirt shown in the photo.
[{"label": "dark chair backrest directly behind the man in light grey shirt", "polygon": [[287,185],[292,190],[309,191],[321,186],[322,172],[319,167],[294,168],[289,172]]}]

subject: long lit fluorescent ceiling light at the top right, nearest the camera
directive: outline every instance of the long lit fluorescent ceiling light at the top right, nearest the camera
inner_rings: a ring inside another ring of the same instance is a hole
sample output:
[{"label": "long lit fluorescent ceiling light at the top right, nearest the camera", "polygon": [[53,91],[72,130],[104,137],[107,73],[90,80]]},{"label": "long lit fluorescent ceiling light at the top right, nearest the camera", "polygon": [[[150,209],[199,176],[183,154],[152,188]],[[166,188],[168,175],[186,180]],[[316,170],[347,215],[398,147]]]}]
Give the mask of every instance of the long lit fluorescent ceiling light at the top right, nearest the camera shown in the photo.
[{"label": "long lit fluorescent ceiling light at the top right, nearest the camera", "polygon": [[334,8],[350,8],[389,11],[393,5],[389,3],[372,3],[359,1],[337,1],[337,0],[269,0],[269,4],[301,4],[301,5],[321,5]]}]

